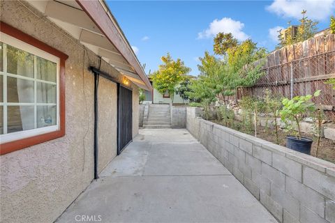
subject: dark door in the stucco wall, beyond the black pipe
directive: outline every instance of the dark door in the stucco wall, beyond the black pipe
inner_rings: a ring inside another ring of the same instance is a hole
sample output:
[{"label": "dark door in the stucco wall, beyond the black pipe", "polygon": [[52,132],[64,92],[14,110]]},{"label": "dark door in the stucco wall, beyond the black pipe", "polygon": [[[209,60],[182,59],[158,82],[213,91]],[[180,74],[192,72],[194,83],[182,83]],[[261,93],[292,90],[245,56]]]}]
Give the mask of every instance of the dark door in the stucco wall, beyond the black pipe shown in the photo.
[{"label": "dark door in the stucco wall, beyond the black pipe", "polygon": [[133,91],[118,84],[117,154],[133,139]]}]

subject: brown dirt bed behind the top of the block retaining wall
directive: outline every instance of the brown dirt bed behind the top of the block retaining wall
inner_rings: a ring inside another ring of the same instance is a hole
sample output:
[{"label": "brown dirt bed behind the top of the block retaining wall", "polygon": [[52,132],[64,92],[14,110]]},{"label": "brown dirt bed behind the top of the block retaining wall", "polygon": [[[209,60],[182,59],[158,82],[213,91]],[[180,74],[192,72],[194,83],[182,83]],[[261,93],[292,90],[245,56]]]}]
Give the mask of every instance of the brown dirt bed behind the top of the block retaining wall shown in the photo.
[{"label": "brown dirt bed behind the top of the block retaining wall", "polygon": [[[211,120],[214,123],[217,123],[219,125],[224,125],[223,121],[217,121],[217,120]],[[235,125],[235,130],[238,130],[240,132],[244,132],[246,134],[251,134],[251,135],[255,135],[254,130],[246,132],[245,128],[241,128],[241,121],[237,121],[235,120],[235,123],[237,125]],[[268,128],[267,130],[265,129],[265,127],[262,126],[258,126],[258,134],[257,137],[260,139],[265,139],[267,141],[271,141],[274,144],[276,144],[276,135],[274,133],[274,129]],[[280,128],[278,129],[278,139],[279,139],[279,144],[281,146],[286,146],[286,135],[288,133],[284,132],[283,130],[281,130]],[[310,139],[313,139],[313,144],[312,144],[312,148],[311,148],[311,155],[316,156],[316,147],[317,147],[317,142],[318,142],[318,138],[314,137],[313,134],[306,134],[303,133],[302,134],[303,137],[308,137]],[[318,151],[318,157],[322,160],[327,160],[329,162],[334,162],[335,163],[335,141],[332,139],[325,139],[325,138],[321,138],[320,140],[320,146],[319,146],[319,151]]]}]

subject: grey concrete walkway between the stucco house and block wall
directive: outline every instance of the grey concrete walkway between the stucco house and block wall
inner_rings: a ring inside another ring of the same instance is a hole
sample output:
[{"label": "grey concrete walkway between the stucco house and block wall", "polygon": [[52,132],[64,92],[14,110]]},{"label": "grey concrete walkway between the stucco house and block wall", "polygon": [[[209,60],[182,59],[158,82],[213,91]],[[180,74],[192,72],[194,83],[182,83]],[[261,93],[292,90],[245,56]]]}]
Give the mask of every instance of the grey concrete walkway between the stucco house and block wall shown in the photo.
[{"label": "grey concrete walkway between the stucco house and block wall", "polygon": [[276,222],[187,130],[140,130],[100,176],[57,222]]}]

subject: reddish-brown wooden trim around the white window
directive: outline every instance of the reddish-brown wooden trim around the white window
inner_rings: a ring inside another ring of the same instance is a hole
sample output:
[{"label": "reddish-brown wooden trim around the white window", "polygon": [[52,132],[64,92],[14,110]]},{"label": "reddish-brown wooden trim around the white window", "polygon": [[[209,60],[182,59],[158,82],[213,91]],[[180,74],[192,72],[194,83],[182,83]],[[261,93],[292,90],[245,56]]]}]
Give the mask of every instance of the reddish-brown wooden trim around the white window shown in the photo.
[{"label": "reddish-brown wooden trim around the white window", "polygon": [[59,130],[54,132],[48,132],[45,134],[38,134],[34,137],[29,137],[25,139],[18,139],[15,141],[9,141],[5,144],[0,144],[0,155],[11,153],[13,151],[18,151],[22,148],[27,148],[29,146],[34,146],[36,144],[43,143],[52,139],[57,139],[65,135],[65,61],[68,59],[68,55],[60,52],[54,47],[50,47],[40,40],[29,36],[13,26],[0,21],[0,31],[6,33],[8,36],[12,36],[24,43],[42,49],[43,51],[57,56],[59,58]]}]

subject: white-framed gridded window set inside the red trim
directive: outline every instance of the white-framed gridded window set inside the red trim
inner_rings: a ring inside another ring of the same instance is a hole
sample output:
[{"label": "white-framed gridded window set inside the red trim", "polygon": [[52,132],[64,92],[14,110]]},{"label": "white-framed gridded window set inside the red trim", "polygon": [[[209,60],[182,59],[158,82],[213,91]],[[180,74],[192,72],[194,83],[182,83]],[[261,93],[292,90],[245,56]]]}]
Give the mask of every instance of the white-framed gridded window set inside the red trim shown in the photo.
[{"label": "white-framed gridded window set inside the red trim", "polygon": [[0,141],[59,130],[59,58],[0,33]]}]

